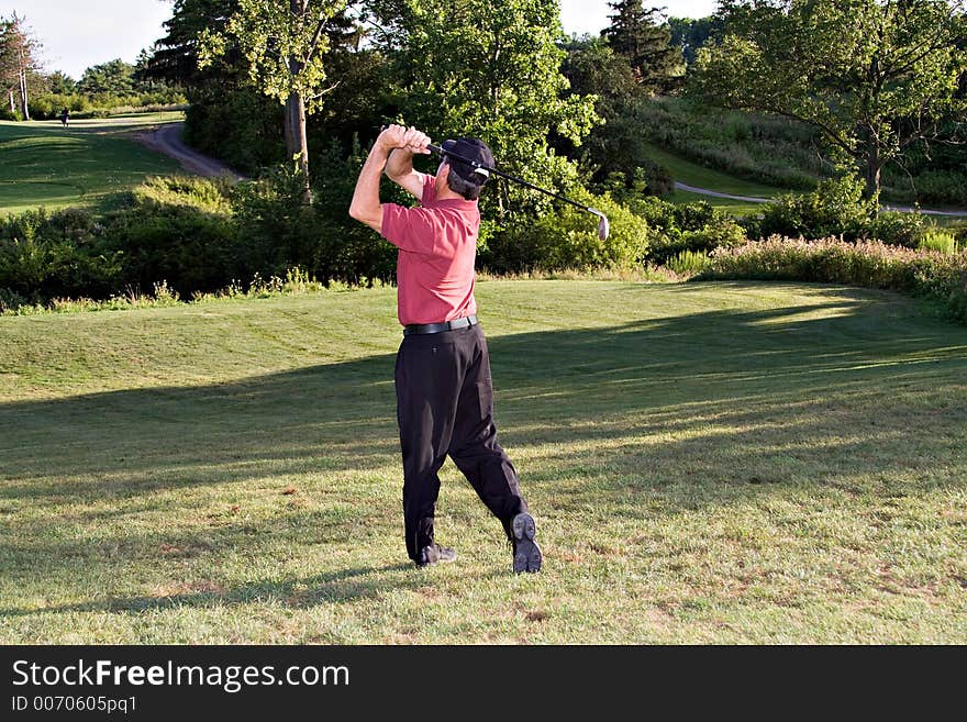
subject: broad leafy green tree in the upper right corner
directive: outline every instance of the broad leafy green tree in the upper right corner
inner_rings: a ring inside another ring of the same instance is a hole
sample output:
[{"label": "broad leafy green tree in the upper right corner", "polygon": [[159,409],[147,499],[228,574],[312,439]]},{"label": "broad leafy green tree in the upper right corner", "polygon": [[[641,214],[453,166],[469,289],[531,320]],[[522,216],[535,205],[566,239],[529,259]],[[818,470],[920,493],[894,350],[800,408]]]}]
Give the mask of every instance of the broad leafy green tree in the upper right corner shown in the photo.
[{"label": "broad leafy green tree in the upper right corner", "polygon": [[689,90],[818,127],[872,198],[887,163],[967,112],[963,13],[963,0],[723,0],[725,34],[698,52]]}]

